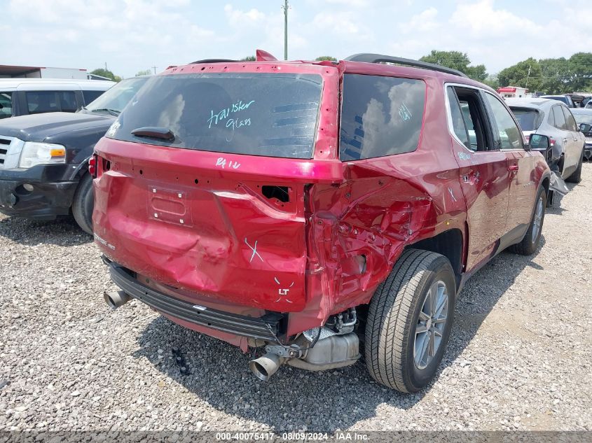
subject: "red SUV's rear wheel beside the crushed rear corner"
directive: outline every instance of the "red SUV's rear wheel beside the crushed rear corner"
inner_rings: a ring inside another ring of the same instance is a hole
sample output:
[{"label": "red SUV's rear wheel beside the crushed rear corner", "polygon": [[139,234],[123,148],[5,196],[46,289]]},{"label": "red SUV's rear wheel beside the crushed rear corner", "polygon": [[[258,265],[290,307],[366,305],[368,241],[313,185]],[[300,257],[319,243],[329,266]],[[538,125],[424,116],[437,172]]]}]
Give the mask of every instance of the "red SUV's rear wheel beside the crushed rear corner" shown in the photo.
[{"label": "red SUV's rear wheel beside the crushed rear corner", "polygon": [[372,378],[404,393],[426,386],[446,349],[455,296],[446,257],[404,251],[370,302],[364,353]]}]

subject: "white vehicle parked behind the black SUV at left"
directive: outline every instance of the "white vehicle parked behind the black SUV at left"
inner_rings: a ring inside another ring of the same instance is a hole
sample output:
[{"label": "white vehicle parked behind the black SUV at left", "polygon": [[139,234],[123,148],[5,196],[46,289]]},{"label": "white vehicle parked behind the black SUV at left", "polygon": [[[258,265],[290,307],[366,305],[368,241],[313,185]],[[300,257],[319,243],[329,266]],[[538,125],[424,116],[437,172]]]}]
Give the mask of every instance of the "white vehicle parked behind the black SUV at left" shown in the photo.
[{"label": "white vehicle parked behind the black SUV at left", "polygon": [[76,112],[113,85],[103,80],[0,78],[0,118]]}]

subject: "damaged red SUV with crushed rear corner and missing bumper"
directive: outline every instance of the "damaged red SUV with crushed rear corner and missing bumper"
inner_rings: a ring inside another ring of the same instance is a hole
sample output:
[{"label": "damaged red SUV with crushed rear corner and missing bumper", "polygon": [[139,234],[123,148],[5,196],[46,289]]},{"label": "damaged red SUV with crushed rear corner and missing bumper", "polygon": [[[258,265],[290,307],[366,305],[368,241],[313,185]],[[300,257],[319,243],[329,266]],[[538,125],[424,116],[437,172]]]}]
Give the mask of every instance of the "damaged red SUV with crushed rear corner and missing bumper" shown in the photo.
[{"label": "damaged red SUV with crushed rear corner and missing bumper", "polygon": [[535,251],[549,187],[494,90],[376,54],[167,69],[92,170],[111,307],[132,297],[259,348],[263,380],[363,349],[403,392],[434,376],[469,276],[506,248]]}]

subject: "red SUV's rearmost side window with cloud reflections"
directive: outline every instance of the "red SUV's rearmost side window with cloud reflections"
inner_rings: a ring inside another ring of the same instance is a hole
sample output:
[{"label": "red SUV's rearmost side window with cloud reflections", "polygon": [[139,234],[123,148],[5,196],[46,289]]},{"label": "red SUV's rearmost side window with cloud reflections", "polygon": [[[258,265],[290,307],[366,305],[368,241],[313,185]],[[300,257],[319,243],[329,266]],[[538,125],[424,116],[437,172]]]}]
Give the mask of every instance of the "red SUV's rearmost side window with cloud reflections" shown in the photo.
[{"label": "red SUV's rearmost side window with cloud reflections", "polygon": [[418,148],[425,83],[411,78],[343,77],[339,157],[385,157]]}]

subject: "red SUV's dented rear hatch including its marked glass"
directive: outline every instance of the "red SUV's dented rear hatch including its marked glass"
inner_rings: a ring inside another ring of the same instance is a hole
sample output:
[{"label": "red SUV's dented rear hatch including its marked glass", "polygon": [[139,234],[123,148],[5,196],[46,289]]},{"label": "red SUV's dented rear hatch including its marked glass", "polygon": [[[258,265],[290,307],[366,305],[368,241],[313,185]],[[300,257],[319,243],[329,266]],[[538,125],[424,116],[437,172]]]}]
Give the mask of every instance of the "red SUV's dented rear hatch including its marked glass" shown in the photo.
[{"label": "red SUV's dented rear hatch including its marked glass", "polygon": [[303,309],[306,188],[342,171],[313,160],[315,144],[331,144],[319,131],[326,69],[290,68],[196,65],[149,80],[95,148],[106,255],[198,300]]}]

